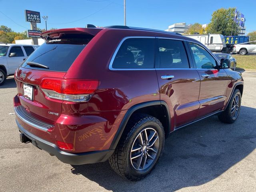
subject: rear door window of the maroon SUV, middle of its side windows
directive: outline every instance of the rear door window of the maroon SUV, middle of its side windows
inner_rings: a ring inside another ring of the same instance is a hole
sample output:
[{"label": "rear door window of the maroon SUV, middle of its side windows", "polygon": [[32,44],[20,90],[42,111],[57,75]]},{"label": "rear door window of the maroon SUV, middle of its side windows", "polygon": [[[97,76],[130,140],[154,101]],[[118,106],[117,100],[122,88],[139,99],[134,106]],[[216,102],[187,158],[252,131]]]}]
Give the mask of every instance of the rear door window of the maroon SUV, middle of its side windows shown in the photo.
[{"label": "rear door window of the maroon SUV, middle of its side windows", "polygon": [[159,39],[159,68],[189,68],[182,41]]}]

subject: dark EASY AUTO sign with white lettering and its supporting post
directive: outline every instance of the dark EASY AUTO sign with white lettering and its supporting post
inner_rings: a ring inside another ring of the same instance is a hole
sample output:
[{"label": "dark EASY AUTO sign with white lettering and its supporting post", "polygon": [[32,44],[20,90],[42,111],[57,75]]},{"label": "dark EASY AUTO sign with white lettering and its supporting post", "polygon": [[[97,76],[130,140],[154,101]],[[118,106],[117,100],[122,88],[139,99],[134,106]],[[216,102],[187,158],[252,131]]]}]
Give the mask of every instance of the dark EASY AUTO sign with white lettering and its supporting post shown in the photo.
[{"label": "dark EASY AUTO sign with white lettering and its supporting post", "polygon": [[[37,23],[41,23],[40,12],[25,10],[25,18],[27,22],[30,22],[30,28],[33,31],[37,31]],[[28,32],[29,33],[29,32]],[[29,36],[29,34],[27,34]],[[32,44],[38,45],[38,38],[32,37]]]}]

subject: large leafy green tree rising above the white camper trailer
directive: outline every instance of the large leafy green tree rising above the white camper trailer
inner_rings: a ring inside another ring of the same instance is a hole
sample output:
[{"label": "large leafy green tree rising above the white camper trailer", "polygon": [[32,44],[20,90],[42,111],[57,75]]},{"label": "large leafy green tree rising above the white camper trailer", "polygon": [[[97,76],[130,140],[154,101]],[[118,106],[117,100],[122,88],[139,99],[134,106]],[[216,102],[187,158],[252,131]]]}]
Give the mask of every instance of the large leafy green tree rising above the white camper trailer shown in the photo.
[{"label": "large leafy green tree rising above the white camper trailer", "polygon": [[236,8],[220,8],[213,12],[208,27],[208,33],[218,33],[224,36],[238,34],[239,26],[234,21]]}]

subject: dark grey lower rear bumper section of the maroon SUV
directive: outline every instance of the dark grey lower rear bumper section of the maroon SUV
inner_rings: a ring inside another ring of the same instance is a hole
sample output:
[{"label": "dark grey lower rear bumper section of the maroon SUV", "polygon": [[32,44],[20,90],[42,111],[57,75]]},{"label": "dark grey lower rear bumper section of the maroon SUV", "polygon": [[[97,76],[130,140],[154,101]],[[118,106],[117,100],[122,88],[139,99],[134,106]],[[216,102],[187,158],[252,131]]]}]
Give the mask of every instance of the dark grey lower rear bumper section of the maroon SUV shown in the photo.
[{"label": "dark grey lower rear bumper section of the maroon SUV", "polygon": [[102,150],[102,151],[92,151],[84,153],[68,153],[60,150],[55,144],[43,140],[34,134],[31,134],[25,130],[19,122],[16,120],[19,131],[29,138],[32,144],[46,152],[50,155],[56,156],[60,161],[72,164],[72,165],[81,165],[81,164],[91,164],[97,162],[104,162],[112,155],[114,150]]}]

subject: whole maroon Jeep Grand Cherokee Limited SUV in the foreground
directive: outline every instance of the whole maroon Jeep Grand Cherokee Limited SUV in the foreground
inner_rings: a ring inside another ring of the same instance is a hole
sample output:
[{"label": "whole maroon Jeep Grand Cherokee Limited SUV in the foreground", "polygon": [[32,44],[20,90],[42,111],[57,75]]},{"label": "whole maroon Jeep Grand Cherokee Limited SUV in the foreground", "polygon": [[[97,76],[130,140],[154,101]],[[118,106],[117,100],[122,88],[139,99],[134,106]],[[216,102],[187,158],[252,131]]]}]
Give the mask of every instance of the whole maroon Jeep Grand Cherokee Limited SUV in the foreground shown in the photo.
[{"label": "whole maroon Jeep Grand Cherokee Limited SUV in the foreground", "polygon": [[149,174],[169,133],[217,114],[233,123],[243,79],[180,34],[108,26],[43,32],[18,68],[23,143],[79,165],[108,160],[130,180]]}]

